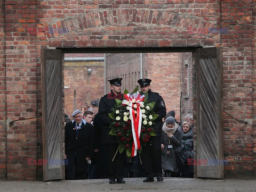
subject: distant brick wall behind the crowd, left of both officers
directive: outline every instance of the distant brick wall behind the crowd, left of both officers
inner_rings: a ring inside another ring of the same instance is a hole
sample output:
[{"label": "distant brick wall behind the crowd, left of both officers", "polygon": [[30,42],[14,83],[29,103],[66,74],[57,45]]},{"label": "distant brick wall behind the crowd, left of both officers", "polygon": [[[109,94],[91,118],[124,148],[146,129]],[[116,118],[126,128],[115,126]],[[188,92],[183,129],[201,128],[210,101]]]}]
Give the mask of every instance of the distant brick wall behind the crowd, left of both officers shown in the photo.
[{"label": "distant brick wall behind the crowd, left of both officers", "polygon": [[[103,55],[102,55],[103,56]],[[65,109],[71,118],[76,108],[91,106],[91,101],[104,94],[104,61],[66,61],[65,62]],[[88,74],[87,69],[92,69]],[[98,112],[98,108],[95,108]]]}]

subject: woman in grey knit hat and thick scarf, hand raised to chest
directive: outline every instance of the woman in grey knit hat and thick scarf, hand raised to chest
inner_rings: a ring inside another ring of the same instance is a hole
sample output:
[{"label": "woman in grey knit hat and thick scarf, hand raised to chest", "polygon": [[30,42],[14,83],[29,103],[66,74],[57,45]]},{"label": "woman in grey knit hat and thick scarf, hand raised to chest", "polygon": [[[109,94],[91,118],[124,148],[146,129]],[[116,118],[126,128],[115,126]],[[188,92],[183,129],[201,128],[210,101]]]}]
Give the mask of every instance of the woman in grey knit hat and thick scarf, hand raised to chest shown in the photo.
[{"label": "woman in grey knit hat and thick scarf, hand raised to chest", "polygon": [[176,151],[181,146],[182,133],[172,116],[166,118],[162,128],[162,166],[165,177],[179,177]]}]

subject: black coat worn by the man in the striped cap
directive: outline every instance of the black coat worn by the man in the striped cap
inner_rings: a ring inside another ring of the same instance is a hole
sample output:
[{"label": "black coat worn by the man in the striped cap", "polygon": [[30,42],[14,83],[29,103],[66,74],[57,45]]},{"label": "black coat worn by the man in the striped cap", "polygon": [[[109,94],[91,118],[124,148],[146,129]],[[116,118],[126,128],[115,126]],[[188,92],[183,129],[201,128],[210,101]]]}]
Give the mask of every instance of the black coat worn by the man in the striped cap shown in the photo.
[{"label": "black coat worn by the man in the striped cap", "polygon": [[77,170],[83,172],[87,170],[86,157],[93,154],[93,126],[90,123],[82,123],[76,139],[75,121],[68,122],[65,126],[65,154],[67,155],[67,169],[71,168],[75,157],[77,157]]}]

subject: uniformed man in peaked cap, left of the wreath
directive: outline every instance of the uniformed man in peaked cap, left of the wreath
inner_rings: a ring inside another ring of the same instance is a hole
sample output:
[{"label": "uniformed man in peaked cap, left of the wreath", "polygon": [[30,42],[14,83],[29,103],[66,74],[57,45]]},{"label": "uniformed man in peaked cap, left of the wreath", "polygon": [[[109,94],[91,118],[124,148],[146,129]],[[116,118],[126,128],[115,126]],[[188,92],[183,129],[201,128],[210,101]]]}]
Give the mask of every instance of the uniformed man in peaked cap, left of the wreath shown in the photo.
[{"label": "uniformed man in peaked cap, left of the wreath", "polygon": [[[115,78],[109,80],[111,86],[111,93],[104,95],[100,99],[99,104],[99,118],[102,122],[102,133],[103,133],[103,145],[107,148],[107,164],[108,164],[108,178],[109,184],[114,183],[125,183],[124,177],[124,165],[125,165],[125,153],[120,154],[115,153],[118,148],[118,143],[116,141],[116,136],[108,135],[110,132],[110,118],[108,113],[111,113],[111,108],[116,104],[115,99],[123,99],[123,94],[121,94],[121,81],[122,78]],[[97,149],[95,149],[97,151]],[[113,160],[113,157],[114,161]]]}]

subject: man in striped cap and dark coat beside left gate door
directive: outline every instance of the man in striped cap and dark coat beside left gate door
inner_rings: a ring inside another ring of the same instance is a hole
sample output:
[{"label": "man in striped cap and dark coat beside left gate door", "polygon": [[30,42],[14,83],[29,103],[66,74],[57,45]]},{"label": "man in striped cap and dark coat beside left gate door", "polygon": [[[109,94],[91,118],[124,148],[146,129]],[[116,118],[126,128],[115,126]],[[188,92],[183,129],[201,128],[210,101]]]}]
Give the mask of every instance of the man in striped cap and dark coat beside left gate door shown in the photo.
[{"label": "man in striped cap and dark coat beside left gate door", "polygon": [[65,156],[68,180],[86,179],[87,161],[93,154],[93,126],[82,119],[80,110],[72,113],[73,121],[65,126]]}]

